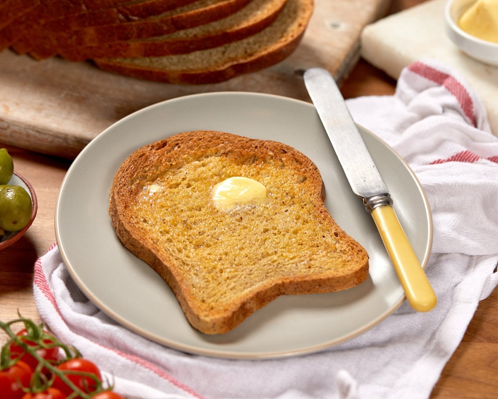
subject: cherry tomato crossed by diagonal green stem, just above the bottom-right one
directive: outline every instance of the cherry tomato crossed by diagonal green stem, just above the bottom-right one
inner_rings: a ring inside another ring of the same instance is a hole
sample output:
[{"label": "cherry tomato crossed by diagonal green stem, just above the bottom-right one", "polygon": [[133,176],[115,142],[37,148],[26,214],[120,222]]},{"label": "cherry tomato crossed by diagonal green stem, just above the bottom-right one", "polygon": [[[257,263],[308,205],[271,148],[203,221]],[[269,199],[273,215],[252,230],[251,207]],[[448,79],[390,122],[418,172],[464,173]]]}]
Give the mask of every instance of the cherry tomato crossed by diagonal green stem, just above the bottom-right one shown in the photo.
[{"label": "cherry tomato crossed by diagonal green stem, just above the bottom-right one", "polygon": [[[77,372],[91,373],[97,378],[99,382],[102,381],[102,376],[100,374],[98,367],[94,363],[86,359],[82,358],[70,359],[58,365],[57,369],[63,372],[70,372],[70,373],[77,373]],[[70,374],[70,373],[65,373],[65,376],[69,379],[69,381],[71,381],[83,392],[88,394],[97,390],[99,385],[90,376],[83,376],[81,374]],[[73,392],[73,390],[59,377],[55,377],[52,387],[57,388],[59,391],[63,392],[66,395],[69,395]]]}]

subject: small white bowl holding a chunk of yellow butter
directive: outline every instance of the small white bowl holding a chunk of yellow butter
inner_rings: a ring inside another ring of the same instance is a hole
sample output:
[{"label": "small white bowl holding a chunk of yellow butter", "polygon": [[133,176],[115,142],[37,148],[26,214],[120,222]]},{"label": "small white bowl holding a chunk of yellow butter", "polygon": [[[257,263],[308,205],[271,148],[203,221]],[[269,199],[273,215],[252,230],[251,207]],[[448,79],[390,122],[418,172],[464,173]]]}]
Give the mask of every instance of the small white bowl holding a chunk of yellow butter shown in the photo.
[{"label": "small white bowl holding a chunk of yellow butter", "polygon": [[449,0],[446,33],[463,52],[498,65],[498,0]]}]

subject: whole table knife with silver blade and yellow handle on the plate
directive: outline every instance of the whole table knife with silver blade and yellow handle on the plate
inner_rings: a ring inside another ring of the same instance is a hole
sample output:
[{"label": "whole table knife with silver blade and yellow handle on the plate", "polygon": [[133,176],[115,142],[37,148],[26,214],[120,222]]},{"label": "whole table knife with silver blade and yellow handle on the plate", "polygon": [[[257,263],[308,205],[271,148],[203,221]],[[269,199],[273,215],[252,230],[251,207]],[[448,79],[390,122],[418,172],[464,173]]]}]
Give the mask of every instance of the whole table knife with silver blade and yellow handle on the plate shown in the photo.
[{"label": "whole table knife with silver blade and yellow handle on the plate", "polygon": [[304,84],[353,192],[363,199],[413,309],[427,312],[437,297],[392,207],[393,200],[332,75],[304,73]]}]

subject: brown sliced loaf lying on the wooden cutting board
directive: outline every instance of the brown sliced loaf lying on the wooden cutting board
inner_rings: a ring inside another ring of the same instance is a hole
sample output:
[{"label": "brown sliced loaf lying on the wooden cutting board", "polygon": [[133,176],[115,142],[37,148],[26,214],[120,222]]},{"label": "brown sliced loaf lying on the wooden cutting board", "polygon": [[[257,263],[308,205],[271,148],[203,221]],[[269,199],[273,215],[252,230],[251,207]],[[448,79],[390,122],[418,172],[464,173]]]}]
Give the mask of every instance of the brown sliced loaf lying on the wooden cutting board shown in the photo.
[{"label": "brown sliced loaf lying on the wooden cutting board", "polygon": [[0,51],[88,59],[177,84],[218,83],[282,61],[314,7],[313,0],[32,1],[26,11],[0,12]]}]

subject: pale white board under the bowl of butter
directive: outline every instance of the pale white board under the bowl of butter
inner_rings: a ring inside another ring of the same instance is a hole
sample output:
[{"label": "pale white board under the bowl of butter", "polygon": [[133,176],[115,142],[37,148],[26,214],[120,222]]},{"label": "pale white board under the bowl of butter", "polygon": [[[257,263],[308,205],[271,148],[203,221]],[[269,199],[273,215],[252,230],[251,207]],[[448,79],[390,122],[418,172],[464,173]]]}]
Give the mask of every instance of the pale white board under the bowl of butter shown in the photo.
[{"label": "pale white board under the bowl of butter", "polygon": [[427,1],[366,26],[361,38],[362,57],[394,79],[414,61],[432,58],[448,65],[478,94],[493,134],[498,136],[498,68],[469,57],[448,38],[446,3]]}]

